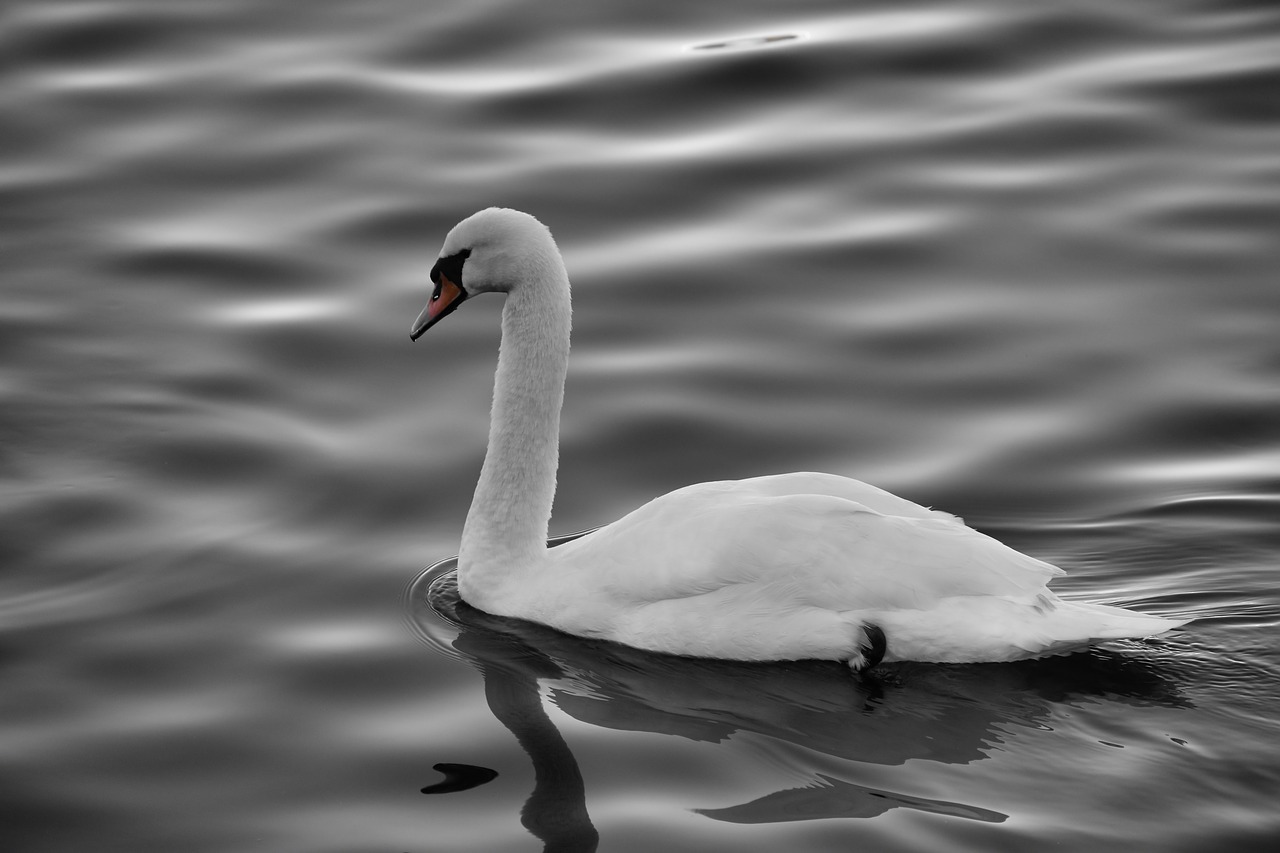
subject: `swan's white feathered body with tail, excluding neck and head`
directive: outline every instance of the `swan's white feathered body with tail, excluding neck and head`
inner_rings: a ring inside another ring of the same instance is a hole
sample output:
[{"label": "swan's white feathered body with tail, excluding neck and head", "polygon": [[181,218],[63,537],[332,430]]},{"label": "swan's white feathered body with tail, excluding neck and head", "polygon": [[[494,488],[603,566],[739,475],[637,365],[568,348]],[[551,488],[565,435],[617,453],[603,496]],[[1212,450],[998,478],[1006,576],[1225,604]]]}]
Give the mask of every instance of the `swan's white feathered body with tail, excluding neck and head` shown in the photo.
[{"label": "swan's white feathered body with tail, excluding neck and head", "polygon": [[872,487],[823,483],[910,514],[790,493],[810,478],[681,489],[556,548],[539,617],[640,648],[742,660],[850,660],[865,624],[888,635],[886,660],[927,661],[1033,657],[1176,624],[1121,624],[1061,602],[1046,588],[1060,569]]}]

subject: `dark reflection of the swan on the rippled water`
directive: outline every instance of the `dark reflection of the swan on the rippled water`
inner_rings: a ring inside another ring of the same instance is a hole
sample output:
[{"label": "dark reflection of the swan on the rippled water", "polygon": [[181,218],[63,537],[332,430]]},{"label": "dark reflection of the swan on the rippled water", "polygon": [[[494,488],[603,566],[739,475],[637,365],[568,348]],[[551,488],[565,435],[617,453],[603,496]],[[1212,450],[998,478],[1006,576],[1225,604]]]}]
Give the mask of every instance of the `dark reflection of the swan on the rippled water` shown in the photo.
[{"label": "dark reflection of the swan on the rippled water", "polygon": [[[980,760],[1011,727],[1043,727],[1061,702],[1105,695],[1140,704],[1183,703],[1158,663],[1105,649],[1018,663],[900,663],[863,679],[836,662],[737,663],[654,654],[477,611],[458,599],[454,565],[438,564],[415,583],[412,619],[429,642],[480,669],[490,710],[532,761],[535,789],[521,817],[548,850],[593,850],[598,836],[577,761],[543,708],[540,683],[559,708],[591,725],[705,742],[755,733],[876,765]],[[872,817],[899,807],[982,821],[1006,817],[818,772],[804,786],[695,811],[755,824]]]}]

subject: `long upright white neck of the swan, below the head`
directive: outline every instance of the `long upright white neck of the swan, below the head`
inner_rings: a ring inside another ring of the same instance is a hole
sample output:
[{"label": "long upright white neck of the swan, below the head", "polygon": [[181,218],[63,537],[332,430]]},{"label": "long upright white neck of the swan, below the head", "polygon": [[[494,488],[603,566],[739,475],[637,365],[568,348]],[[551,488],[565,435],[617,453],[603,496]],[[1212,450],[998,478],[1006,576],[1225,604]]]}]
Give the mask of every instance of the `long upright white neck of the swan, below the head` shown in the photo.
[{"label": "long upright white neck of the swan, below the head", "polygon": [[538,259],[529,275],[503,307],[489,450],[458,555],[460,592],[490,612],[502,610],[498,599],[508,581],[545,558],[556,497],[568,277],[558,255]]}]

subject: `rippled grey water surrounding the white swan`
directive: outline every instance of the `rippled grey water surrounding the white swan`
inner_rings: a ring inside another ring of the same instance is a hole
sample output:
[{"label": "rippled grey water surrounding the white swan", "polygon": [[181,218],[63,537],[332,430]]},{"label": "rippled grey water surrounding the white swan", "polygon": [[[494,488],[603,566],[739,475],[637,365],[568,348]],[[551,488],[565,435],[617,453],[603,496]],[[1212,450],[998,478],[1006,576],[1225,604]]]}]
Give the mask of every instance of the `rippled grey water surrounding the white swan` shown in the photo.
[{"label": "rippled grey water surrounding the white swan", "polygon": [[[0,15],[0,848],[1280,839],[1274,4]],[[828,470],[1197,621],[858,683],[458,607],[500,302],[407,332],[490,204],[576,286],[556,532]]]}]

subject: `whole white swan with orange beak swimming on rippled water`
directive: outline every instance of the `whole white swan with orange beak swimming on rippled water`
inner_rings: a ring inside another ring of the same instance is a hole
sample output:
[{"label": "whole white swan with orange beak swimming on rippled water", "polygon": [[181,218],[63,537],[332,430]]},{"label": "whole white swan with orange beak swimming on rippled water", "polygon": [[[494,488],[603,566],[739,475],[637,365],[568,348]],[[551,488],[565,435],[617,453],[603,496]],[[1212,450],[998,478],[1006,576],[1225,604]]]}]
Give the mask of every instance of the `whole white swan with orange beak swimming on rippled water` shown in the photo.
[{"label": "whole white swan with orange beak swimming on rippled water", "polygon": [[1064,574],[867,483],[796,473],[700,483],[547,547],[571,301],[550,231],[489,207],[449,231],[410,337],[506,293],[489,446],[458,551],[488,613],[630,647],[740,661],[1012,661],[1189,620],[1071,602]]}]

